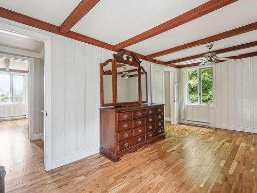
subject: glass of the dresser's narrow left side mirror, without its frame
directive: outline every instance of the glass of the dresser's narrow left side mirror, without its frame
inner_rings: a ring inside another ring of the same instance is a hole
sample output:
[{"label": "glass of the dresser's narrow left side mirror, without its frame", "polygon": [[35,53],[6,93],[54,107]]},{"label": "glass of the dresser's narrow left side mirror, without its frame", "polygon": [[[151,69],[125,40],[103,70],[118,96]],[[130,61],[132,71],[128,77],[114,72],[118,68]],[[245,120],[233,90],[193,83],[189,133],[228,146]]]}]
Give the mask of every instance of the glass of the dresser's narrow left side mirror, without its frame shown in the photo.
[{"label": "glass of the dresser's narrow left side mirror, without its frame", "polygon": [[112,62],[103,66],[103,103],[113,103]]}]

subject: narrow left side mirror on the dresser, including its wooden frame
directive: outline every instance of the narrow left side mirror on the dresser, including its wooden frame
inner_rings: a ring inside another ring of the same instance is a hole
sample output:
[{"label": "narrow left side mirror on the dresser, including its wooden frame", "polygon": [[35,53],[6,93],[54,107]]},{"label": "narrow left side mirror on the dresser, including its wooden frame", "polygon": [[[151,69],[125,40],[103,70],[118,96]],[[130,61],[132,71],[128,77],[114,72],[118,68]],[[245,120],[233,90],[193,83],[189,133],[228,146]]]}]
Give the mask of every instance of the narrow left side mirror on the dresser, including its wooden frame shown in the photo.
[{"label": "narrow left side mirror on the dresser, including its wooden frame", "polygon": [[100,65],[101,71],[101,106],[113,106],[113,60]]}]

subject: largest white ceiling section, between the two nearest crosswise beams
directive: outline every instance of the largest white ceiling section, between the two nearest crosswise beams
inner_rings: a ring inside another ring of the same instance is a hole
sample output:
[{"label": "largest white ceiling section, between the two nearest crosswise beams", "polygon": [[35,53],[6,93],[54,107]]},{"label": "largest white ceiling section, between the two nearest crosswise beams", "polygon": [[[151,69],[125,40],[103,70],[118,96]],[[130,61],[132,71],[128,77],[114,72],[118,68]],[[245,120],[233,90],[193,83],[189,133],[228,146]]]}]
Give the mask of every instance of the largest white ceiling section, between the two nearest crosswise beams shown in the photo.
[{"label": "largest white ceiling section, between the two nearest crosswise beams", "polygon": [[71,30],[118,44],[208,0],[101,0]]}]

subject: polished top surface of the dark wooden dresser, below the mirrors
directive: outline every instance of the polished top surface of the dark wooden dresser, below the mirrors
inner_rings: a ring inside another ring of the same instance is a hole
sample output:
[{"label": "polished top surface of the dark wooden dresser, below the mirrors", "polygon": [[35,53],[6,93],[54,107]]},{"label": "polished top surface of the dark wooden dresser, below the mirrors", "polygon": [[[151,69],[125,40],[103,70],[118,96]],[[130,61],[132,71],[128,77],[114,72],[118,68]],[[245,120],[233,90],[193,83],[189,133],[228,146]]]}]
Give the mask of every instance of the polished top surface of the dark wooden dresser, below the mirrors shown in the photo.
[{"label": "polished top surface of the dark wooden dresser, below the mirrors", "polygon": [[108,108],[100,108],[100,111],[133,111],[140,109],[149,109],[155,107],[162,107],[164,104],[142,104],[139,106],[124,106],[124,107],[108,107]]}]

